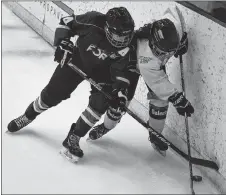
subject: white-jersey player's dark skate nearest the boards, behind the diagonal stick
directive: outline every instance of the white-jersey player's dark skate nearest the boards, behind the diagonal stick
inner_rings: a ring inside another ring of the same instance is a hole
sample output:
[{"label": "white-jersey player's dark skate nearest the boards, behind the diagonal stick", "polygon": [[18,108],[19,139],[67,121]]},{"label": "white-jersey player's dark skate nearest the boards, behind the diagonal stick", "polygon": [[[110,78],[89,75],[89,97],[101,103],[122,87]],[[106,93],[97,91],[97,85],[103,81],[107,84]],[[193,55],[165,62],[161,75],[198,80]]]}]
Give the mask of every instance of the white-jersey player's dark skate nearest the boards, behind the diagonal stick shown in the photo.
[{"label": "white-jersey player's dark skate nearest the boards, behind the diagonal stick", "polygon": [[157,138],[155,135],[149,133],[148,140],[151,142],[152,147],[162,156],[166,156],[166,150],[168,150],[168,145],[162,140]]}]

